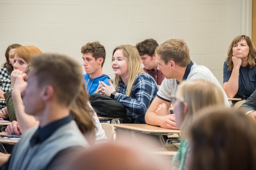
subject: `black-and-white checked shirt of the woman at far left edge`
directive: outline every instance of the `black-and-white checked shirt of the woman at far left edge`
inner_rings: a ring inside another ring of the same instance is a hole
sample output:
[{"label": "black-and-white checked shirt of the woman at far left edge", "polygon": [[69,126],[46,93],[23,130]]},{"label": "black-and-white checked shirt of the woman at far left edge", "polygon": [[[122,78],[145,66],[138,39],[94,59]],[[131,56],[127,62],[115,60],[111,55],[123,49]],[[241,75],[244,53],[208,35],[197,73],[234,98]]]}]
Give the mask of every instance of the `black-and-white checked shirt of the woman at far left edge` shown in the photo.
[{"label": "black-and-white checked shirt of the woman at far left edge", "polygon": [[[10,75],[5,67],[1,67],[0,69],[0,89],[4,92],[9,91],[9,87],[11,85]],[[4,108],[6,106],[5,101],[0,101],[0,108]]]}]

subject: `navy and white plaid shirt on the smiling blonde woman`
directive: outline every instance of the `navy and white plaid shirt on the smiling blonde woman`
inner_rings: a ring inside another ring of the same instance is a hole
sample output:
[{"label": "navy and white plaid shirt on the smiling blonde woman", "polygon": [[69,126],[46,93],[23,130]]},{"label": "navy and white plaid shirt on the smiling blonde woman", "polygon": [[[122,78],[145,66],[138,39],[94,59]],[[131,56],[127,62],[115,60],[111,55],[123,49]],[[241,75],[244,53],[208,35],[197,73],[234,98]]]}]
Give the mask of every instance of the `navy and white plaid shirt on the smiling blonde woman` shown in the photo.
[{"label": "navy and white plaid shirt on the smiling blonde woman", "polygon": [[132,118],[131,123],[145,124],[145,113],[158,91],[156,81],[150,75],[143,73],[135,78],[130,97],[126,96],[126,88],[120,79],[120,85],[116,87],[116,92],[119,94],[115,100],[124,104],[127,117]]}]

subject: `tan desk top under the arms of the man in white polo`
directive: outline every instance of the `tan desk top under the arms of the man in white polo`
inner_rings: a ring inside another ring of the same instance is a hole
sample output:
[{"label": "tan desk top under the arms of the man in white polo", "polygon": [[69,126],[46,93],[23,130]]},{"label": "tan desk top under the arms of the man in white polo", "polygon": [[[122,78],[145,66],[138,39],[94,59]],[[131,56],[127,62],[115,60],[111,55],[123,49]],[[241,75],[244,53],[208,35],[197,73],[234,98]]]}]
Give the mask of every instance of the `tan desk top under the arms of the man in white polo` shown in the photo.
[{"label": "tan desk top under the arms of the man in white polo", "polygon": [[180,133],[180,130],[164,129],[157,126],[152,126],[149,124],[112,124],[116,128],[129,129],[133,131],[139,131],[147,134],[159,134],[159,135],[169,135],[172,133]]}]

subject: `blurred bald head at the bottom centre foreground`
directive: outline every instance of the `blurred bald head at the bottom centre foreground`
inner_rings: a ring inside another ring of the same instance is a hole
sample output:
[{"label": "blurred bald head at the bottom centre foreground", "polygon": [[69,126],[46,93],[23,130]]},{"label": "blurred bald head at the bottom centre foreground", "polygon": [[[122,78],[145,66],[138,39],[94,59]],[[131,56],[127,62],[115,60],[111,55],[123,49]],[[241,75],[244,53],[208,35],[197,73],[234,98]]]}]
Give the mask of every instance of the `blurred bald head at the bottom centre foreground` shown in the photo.
[{"label": "blurred bald head at the bottom centre foreground", "polygon": [[78,155],[70,169],[82,170],[162,170],[161,160],[139,148],[118,143],[97,145]]}]

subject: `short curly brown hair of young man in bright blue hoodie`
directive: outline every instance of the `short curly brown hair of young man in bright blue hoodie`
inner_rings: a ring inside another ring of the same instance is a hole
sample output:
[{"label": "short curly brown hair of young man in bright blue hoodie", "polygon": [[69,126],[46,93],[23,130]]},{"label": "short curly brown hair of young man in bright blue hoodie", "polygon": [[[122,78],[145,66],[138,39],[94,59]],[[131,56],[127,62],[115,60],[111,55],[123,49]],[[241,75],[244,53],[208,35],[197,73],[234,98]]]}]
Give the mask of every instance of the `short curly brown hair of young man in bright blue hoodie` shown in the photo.
[{"label": "short curly brown hair of young man in bright blue hoodie", "polygon": [[98,58],[103,58],[103,62],[101,64],[101,67],[103,67],[106,58],[106,50],[99,41],[86,43],[84,46],[82,46],[81,53],[91,53],[92,57],[94,57],[95,60],[97,60]]}]

